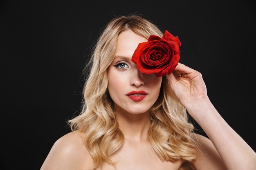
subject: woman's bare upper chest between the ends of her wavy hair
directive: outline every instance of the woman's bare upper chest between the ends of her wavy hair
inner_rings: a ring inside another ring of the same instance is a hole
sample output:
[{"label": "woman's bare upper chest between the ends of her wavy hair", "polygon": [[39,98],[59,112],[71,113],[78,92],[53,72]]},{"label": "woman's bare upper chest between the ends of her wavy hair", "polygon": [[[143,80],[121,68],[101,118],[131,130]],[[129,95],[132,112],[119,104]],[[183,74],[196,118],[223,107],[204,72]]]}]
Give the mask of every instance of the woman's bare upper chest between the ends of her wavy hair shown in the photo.
[{"label": "woman's bare upper chest between the ends of her wavy hair", "polygon": [[182,161],[161,161],[150,144],[125,143],[111,160],[116,162],[116,167],[107,163],[102,170],[178,170]]}]

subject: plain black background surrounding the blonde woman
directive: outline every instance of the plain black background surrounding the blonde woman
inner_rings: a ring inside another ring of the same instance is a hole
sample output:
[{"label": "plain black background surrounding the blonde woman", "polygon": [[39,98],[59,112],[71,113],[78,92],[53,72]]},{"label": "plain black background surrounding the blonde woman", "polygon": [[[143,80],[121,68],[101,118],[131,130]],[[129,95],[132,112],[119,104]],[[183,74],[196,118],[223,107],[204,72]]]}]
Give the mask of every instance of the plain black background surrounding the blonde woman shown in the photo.
[{"label": "plain black background surrounding the blonde woman", "polygon": [[40,169],[70,132],[66,121],[79,114],[92,45],[110,19],[128,13],[179,37],[180,62],[202,73],[220,115],[256,150],[253,0],[0,3],[4,169]]}]

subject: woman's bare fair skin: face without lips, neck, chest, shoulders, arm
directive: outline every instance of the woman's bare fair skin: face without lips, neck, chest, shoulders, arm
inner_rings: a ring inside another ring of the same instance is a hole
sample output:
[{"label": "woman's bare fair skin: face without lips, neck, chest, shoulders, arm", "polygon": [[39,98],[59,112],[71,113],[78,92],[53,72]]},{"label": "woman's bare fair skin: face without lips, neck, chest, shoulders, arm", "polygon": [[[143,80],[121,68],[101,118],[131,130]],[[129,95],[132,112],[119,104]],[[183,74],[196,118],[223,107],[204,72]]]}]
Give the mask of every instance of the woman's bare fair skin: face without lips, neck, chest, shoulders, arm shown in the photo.
[{"label": "woman's bare fair skin: face without lips, neck, chest, shoulders, arm", "polygon": [[[117,170],[185,170],[183,160],[160,161],[147,140],[150,126],[148,109],[159,94],[162,77],[140,73],[131,61],[140,42],[147,40],[132,31],[122,32],[117,41],[117,56],[108,68],[108,88],[115,102],[117,120],[124,133],[124,145],[111,159]],[[119,64],[119,63],[125,64]],[[119,64],[118,67],[114,65]],[[126,77],[124,79],[124,76]],[[197,158],[192,162],[196,170],[255,170],[256,153],[226,123],[211,104],[201,73],[178,64],[166,75],[170,88],[209,137],[195,135],[200,143]],[[154,81],[150,81],[150,79]],[[126,93],[144,90],[148,93],[141,102],[134,102]],[[40,170],[86,170],[92,157],[83,144],[84,134],[75,131],[58,139]],[[103,164],[103,170],[114,170]]]}]

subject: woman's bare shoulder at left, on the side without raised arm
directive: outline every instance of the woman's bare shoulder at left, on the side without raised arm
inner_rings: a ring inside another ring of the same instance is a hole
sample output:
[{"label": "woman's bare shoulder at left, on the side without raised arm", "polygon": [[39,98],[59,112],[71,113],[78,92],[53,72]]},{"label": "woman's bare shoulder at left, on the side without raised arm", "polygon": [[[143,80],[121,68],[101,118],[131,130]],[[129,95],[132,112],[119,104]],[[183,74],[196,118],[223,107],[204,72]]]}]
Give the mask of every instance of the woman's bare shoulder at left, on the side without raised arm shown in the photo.
[{"label": "woman's bare shoulder at left, on the side without raised arm", "polygon": [[86,169],[92,158],[84,145],[84,134],[79,131],[67,133],[59,138],[40,170]]}]

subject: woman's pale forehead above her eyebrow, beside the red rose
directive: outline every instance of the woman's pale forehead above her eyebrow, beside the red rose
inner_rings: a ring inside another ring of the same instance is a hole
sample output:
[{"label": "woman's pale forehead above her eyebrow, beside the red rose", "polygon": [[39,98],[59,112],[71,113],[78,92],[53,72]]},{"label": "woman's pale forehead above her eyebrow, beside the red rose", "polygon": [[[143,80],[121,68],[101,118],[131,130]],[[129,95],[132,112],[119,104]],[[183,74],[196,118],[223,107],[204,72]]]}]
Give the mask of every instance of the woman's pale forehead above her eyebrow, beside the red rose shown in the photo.
[{"label": "woman's pale forehead above her eyebrow, beside the red rose", "polygon": [[130,29],[121,32],[117,38],[117,52],[116,55],[132,57],[138,44],[148,41],[146,38],[137,35]]}]

